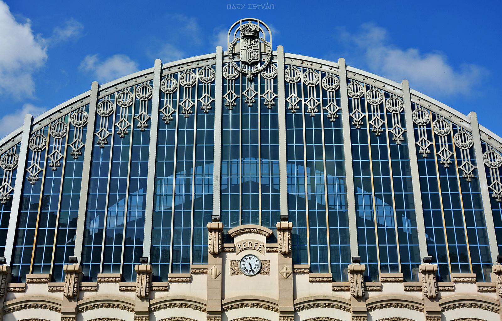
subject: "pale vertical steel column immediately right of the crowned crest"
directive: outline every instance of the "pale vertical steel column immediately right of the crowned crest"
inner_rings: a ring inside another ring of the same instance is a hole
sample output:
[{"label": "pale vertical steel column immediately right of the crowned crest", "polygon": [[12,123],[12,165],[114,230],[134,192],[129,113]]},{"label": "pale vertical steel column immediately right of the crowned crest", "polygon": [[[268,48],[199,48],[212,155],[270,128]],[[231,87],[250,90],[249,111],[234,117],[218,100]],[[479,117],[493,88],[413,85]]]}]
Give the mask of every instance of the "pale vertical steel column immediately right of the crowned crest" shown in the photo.
[{"label": "pale vertical steel column immediately right of the crowned crest", "polygon": [[[284,82],[284,47],[277,46],[277,95],[279,109],[279,190],[281,191],[281,216],[288,211],[288,168],[286,157],[286,91]],[[288,216],[289,218],[289,216]],[[289,220],[289,219],[288,219]],[[281,220],[282,221],[282,220]],[[272,223],[272,222],[271,222]]]}]

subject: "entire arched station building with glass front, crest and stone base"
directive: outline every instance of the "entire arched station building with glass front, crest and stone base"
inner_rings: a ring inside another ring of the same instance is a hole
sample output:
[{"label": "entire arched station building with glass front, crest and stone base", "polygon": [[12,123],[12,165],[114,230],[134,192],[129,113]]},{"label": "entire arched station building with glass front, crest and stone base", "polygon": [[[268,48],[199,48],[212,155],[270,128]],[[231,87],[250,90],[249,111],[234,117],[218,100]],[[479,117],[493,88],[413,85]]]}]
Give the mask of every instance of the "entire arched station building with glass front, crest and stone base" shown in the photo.
[{"label": "entire arched station building with glass front, crest and stone base", "polygon": [[501,154],[240,20],[0,141],[0,318],[500,320]]}]

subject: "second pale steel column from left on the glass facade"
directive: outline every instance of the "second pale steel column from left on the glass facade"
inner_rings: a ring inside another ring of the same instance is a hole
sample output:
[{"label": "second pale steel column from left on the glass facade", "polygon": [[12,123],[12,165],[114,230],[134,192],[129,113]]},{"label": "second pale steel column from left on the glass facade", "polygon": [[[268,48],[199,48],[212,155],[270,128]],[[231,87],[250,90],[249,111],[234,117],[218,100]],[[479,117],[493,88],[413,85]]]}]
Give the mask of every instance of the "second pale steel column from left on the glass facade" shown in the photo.
[{"label": "second pale steel column from left on the glass facade", "polygon": [[93,81],[89,97],[89,118],[85,134],[84,162],[82,166],[82,184],[80,185],[80,201],[78,203],[77,232],[75,235],[75,250],[73,255],[80,263],[84,241],[85,216],[87,213],[87,197],[89,194],[89,177],[91,174],[92,149],[94,145],[94,127],[96,126],[96,106],[99,84]]}]

